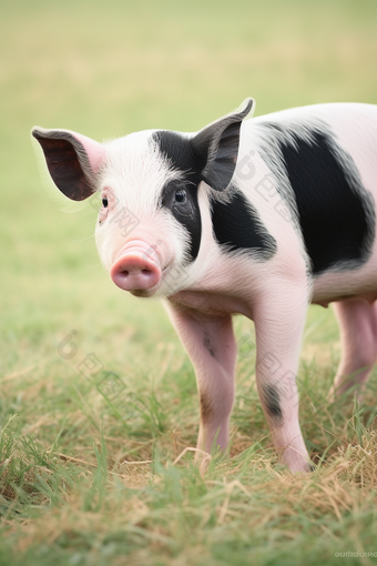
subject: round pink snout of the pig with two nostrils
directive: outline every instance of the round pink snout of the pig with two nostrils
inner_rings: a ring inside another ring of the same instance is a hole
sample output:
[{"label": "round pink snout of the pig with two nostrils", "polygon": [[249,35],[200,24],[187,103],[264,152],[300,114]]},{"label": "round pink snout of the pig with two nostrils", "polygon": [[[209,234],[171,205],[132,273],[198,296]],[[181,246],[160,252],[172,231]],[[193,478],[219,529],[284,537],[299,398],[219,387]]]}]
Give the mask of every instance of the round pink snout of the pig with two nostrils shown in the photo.
[{"label": "round pink snout of the pig with two nostrils", "polygon": [[110,270],[115,285],[124,291],[152,289],[161,279],[156,254],[146,245],[131,245],[122,250]]}]

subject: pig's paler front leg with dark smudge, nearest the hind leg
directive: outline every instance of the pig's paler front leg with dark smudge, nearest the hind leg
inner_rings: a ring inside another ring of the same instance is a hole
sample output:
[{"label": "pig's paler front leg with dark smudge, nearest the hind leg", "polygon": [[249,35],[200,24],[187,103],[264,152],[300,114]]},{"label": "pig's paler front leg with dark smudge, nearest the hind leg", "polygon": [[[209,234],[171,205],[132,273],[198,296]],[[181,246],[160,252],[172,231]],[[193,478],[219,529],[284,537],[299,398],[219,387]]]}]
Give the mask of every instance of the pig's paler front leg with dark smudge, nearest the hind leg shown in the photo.
[{"label": "pig's paler front leg with dark smudge, nearest the hind leg", "polygon": [[[310,471],[298,422],[296,373],[307,312],[306,285],[282,282],[254,307],[256,383],[273,441],[292,472]],[[278,293],[277,293],[278,290]]]}]

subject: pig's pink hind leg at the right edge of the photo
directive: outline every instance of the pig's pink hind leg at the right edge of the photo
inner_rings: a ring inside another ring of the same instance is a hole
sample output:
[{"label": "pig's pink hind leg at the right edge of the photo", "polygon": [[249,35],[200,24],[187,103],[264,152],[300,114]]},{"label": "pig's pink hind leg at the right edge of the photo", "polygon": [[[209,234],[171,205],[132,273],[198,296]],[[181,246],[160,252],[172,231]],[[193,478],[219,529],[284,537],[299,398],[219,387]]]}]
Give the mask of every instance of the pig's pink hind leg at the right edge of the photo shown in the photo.
[{"label": "pig's pink hind leg at the right edge of the photo", "polygon": [[340,326],[342,360],[329,396],[353,388],[359,395],[377,361],[377,303],[334,303]]}]

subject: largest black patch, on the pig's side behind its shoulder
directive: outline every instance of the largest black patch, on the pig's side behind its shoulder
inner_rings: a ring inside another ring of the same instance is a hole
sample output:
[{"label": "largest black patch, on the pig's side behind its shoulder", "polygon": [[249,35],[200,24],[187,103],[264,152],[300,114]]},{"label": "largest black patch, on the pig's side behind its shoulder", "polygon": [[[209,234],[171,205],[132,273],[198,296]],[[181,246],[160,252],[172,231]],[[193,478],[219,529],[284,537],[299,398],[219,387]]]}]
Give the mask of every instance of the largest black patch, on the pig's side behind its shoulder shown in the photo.
[{"label": "largest black patch, on the pig's side behind its shoulder", "polygon": [[305,129],[305,137],[291,127],[289,135],[266,127],[276,131],[313,273],[360,266],[371,252],[375,212],[351,156],[326,124]]}]

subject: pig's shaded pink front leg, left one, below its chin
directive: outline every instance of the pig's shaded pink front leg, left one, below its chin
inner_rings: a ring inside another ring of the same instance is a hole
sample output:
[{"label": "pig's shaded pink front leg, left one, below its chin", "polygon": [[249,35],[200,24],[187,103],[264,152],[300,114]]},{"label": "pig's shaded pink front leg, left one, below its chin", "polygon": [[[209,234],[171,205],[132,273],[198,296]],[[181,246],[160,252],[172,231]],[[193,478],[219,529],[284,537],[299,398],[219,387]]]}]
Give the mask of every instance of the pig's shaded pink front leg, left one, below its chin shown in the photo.
[{"label": "pig's shaded pink front leg, left one, below its chin", "polygon": [[197,448],[211,454],[230,442],[237,348],[232,317],[210,316],[166,304],[172,323],[194,365],[201,403]]}]

